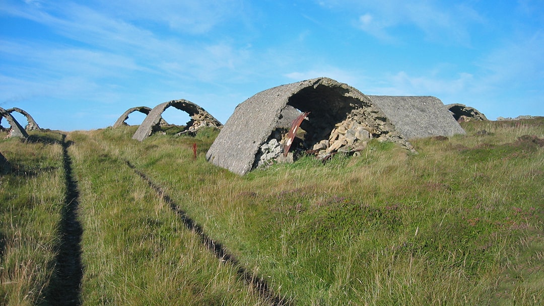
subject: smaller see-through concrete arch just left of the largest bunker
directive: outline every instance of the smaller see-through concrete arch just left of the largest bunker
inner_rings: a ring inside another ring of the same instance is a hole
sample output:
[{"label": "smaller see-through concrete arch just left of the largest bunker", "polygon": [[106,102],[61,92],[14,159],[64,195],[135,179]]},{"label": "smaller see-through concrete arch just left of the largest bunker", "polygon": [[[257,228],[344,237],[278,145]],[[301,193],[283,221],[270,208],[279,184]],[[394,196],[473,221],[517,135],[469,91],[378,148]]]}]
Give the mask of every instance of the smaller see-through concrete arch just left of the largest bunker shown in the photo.
[{"label": "smaller see-through concrete arch just left of the largest bunker", "polygon": [[193,102],[181,99],[181,100],[172,100],[164,103],[160,103],[154,107],[150,113],[145,117],[144,122],[140,124],[136,133],[132,136],[133,139],[143,141],[151,133],[154,128],[157,128],[161,115],[165,109],[169,107],[175,107],[179,110],[185,111],[191,117],[191,120],[187,122],[186,130],[189,132],[196,132],[196,130],[202,127],[216,127],[221,128],[222,124],[212,115],[210,115],[205,109],[201,108],[199,105],[194,104]]}]

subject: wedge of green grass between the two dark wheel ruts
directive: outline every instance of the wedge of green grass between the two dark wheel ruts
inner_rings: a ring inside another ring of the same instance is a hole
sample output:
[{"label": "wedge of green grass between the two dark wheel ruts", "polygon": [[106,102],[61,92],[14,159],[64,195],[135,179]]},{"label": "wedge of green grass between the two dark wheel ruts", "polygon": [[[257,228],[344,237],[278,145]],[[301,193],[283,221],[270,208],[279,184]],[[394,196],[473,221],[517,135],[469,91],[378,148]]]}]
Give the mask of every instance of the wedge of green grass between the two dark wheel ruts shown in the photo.
[{"label": "wedge of green grass between the two dark wheel ruts", "polygon": [[[108,132],[104,132],[108,133]],[[118,155],[119,142],[71,133],[81,191],[86,305],[265,305]],[[123,140],[123,147],[138,145]]]}]

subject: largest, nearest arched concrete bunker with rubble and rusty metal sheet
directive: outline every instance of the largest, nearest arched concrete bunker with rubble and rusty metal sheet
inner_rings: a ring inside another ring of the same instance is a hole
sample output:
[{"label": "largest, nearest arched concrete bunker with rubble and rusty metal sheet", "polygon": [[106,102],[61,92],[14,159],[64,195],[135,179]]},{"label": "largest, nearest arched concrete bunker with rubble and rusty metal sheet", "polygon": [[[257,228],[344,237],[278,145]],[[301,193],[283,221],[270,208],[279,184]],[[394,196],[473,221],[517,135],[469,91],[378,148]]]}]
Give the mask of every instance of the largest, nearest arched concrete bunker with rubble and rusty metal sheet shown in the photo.
[{"label": "largest, nearest arched concrete bunker with rubble and rusty metal sheet", "polygon": [[[301,114],[306,118],[299,120],[300,129],[289,147],[288,130]],[[368,96],[336,80],[316,78],[261,91],[239,104],[206,158],[245,174],[275,160],[292,160],[297,152],[320,158],[355,153],[370,139],[397,142],[413,150]]]}]

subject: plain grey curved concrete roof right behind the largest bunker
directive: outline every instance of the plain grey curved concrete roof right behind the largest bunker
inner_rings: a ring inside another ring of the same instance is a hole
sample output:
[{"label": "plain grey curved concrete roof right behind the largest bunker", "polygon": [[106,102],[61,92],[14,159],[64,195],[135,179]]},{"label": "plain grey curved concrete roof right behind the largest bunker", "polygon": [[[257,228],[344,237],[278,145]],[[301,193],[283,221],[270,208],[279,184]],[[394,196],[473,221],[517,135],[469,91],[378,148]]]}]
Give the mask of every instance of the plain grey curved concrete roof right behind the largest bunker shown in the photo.
[{"label": "plain grey curved concrete roof right behind the largest bunker", "polygon": [[407,139],[466,133],[436,97],[368,97]]}]

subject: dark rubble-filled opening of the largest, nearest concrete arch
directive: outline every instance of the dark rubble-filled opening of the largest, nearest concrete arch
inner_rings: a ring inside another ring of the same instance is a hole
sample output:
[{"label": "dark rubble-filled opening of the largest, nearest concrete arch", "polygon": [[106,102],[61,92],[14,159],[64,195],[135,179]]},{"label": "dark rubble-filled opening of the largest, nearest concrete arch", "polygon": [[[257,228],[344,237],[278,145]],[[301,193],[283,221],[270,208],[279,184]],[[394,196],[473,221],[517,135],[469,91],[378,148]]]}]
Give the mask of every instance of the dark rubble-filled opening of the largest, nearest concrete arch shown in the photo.
[{"label": "dark rubble-filled opening of the largest, nearest concrete arch", "polygon": [[[355,153],[366,147],[373,136],[379,136],[372,133],[379,132],[371,127],[372,124],[366,124],[364,103],[345,95],[346,92],[344,88],[318,85],[289,97],[276,128],[259,148],[254,167],[270,165],[274,161],[292,162],[302,154],[313,154],[325,160],[337,152]],[[302,114],[305,118],[296,128],[288,147],[289,129]]]}]

